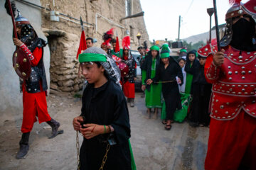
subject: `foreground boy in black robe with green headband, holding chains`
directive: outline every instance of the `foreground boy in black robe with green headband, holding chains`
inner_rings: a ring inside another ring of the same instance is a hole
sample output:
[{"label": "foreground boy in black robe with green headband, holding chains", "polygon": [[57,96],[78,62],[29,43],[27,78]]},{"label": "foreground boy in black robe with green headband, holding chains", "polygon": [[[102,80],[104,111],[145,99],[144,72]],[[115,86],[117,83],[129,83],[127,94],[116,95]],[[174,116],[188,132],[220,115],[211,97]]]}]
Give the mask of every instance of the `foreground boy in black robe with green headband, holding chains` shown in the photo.
[{"label": "foreground boy in black robe with green headband, holding chains", "polygon": [[107,154],[104,169],[130,170],[129,113],[117,64],[97,47],[85,50],[79,62],[88,82],[82,94],[82,113],[73,120],[74,130],[84,137],[80,169],[100,169]]}]

